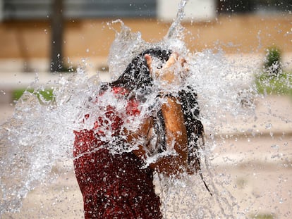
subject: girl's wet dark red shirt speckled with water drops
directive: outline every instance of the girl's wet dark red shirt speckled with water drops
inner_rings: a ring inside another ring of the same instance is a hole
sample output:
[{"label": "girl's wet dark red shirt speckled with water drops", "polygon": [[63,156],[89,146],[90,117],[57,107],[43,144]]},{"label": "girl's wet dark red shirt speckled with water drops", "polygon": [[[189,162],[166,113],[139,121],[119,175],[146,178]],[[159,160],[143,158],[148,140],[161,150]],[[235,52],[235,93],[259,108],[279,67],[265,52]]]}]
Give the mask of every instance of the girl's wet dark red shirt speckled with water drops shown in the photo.
[{"label": "girl's wet dark red shirt speckled with water drops", "polygon": [[[113,92],[121,93],[121,89]],[[128,101],[126,114],[139,113],[138,102]],[[115,144],[123,147],[123,118],[112,106],[107,107],[104,118],[99,117],[92,130],[75,131],[74,167],[85,218],[162,218],[152,170],[143,168],[142,161],[132,152],[111,154],[109,143],[102,142],[101,127],[109,125],[109,121]]]}]

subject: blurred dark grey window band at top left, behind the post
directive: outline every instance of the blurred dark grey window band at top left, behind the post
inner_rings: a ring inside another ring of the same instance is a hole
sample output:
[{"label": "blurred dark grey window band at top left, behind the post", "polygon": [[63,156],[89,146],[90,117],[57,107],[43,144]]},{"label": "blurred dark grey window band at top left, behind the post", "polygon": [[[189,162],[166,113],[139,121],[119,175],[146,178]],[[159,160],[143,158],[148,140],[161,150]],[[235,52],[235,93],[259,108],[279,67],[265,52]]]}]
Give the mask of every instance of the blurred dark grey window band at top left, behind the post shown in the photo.
[{"label": "blurred dark grey window band at top left, behind the post", "polygon": [[[46,20],[51,15],[52,0],[1,0],[4,20]],[[64,0],[68,19],[135,18],[156,16],[156,0]]]}]

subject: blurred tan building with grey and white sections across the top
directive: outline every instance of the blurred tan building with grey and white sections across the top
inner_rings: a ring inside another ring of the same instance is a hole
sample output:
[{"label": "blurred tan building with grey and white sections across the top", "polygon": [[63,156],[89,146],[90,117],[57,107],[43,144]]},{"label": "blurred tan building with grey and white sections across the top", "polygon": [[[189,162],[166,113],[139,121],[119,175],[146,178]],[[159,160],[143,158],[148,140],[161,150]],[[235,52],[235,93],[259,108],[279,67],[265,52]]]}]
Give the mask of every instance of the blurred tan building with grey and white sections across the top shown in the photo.
[{"label": "blurred tan building with grey and white sections across the top", "polygon": [[[49,58],[53,0],[0,0],[0,58]],[[65,57],[107,56],[121,18],[146,41],[166,34],[180,0],[63,0]],[[270,44],[292,51],[291,0],[189,0],[185,23],[192,50],[262,52]],[[231,45],[231,46],[226,46]],[[232,46],[233,45],[233,46]],[[236,45],[236,46],[234,46]]]}]

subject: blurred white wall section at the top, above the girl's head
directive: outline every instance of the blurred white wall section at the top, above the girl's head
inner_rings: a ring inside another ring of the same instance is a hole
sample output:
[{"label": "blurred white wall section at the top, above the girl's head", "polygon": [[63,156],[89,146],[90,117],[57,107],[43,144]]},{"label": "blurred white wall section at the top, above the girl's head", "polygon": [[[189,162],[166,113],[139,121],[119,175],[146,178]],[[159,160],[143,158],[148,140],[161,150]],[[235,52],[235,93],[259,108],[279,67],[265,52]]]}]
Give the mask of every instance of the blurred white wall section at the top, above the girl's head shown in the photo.
[{"label": "blurred white wall section at the top, above the girl's head", "polygon": [[[157,0],[157,17],[164,21],[172,21],[176,18],[178,4],[181,0]],[[210,21],[216,18],[215,0],[188,0],[185,6],[185,19],[198,21]]]}]

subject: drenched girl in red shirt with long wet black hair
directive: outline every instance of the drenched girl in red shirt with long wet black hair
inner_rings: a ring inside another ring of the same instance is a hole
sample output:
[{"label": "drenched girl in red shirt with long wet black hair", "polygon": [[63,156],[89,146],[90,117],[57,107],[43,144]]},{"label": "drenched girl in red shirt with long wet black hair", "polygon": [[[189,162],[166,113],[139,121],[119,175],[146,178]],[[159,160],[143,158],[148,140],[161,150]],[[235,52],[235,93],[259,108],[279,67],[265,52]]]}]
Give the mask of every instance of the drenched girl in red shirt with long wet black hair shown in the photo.
[{"label": "drenched girl in red shirt with long wet black hair", "polygon": [[[153,58],[162,61],[160,70],[152,70]],[[143,96],[153,92],[157,77],[164,85],[178,80],[174,73],[177,64],[185,65],[178,54],[149,49],[134,58],[118,80],[102,85],[99,95],[111,92],[114,98],[124,99],[127,104],[123,113],[107,106],[104,117],[97,118],[92,129],[75,131],[74,167],[83,194],[85,218],[162,218],[159,196],[154,192],[153,171],[178,175],[200,170],[197,149],[203,139],[203,128],[197,120],[199,112],[192,91],[157,94],[164,102],[155,115],[145,118],[137,132],[123,127],[128,116],[140,115]],[[88,118],[90,115],[85,115],[85,120]],[[105,131],[111,133],[110,141],[105,138]],[[157,140],[153,149],[154,136]],[[139,149],[118,154],[110,151],[111,144],[123,149],[141,137],[146,143]],[[150,147],[152,152],[159,153],[169,146],[176,155],[162,156],[145,168],[143,158]]]}]

